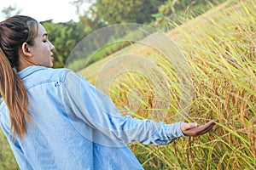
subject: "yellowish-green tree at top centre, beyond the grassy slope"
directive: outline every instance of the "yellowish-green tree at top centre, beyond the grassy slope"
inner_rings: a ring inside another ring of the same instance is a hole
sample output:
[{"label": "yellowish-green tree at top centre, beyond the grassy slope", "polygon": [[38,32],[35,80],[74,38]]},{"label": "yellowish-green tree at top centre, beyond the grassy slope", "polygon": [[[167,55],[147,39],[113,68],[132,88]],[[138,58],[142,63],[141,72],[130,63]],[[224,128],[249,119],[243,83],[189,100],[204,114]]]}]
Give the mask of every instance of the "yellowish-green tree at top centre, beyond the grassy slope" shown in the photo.
[{"label": "yellowish-green tree at top centre, beyond the grassy slope", "polygon": [[165,0],[96,0],[97,13],[108,25],[119,23],[150,23],[151,14],[158,11]]}]

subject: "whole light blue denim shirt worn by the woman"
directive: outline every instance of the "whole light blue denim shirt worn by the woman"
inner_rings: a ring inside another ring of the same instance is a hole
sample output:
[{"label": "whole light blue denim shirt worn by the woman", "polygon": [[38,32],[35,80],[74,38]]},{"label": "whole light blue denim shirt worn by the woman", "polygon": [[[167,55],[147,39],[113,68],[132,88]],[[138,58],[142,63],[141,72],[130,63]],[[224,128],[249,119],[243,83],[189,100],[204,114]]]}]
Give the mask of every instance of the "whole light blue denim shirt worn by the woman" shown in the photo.
[{"label": "whole light blue denim shirt worn by the woman", "polygon": [[73,71],[30,66],[19,76],[32,123],[22,139],[13,139],[4,102],[0,123],[20,169],[143,169],[126,143],[169,144],[183,136],[180,122],[121,116],[107,95]]}]

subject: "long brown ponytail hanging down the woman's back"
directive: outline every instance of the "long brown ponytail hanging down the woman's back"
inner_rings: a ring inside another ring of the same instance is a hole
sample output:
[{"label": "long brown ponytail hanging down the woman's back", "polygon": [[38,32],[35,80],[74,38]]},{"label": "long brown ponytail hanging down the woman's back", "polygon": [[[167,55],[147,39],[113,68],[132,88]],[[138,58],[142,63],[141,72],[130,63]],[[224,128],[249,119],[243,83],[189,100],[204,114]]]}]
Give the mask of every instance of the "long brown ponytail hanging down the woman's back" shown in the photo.
[{"label": "long brown ponytail hanging down the woman's back", "polygon": [[26,121],[31,122],[27,112],[28,97],[26,88],[10,65],[9,59],[0,48],[0,92],[9,109],[10,133],[22,138],[26,133]]}]

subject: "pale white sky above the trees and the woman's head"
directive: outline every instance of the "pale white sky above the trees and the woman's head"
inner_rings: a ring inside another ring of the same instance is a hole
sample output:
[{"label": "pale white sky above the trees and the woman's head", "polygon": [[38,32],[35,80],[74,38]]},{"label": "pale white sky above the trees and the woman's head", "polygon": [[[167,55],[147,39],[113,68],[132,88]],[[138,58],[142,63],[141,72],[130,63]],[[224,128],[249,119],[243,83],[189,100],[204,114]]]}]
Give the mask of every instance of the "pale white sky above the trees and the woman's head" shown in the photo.
[{"label": "pale white sky above the trees and the woman's head", "polygon": [[[0,12],[3,8],[12,5],[21,9],[23,15],[31,16],[40,21],[53,20],[54,22],[78,21],[76,8],[70,4],[74,0],[0,0]],[[2,12],[0,21],[4,20]]]}]

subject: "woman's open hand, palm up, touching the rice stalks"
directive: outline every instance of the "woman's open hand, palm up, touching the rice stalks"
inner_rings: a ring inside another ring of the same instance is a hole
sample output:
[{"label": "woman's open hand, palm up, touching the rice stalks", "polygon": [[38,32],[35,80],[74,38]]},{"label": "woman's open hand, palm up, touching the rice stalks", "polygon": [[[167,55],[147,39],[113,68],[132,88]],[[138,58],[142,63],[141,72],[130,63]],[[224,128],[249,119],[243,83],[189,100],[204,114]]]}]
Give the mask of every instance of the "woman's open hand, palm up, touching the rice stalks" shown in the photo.
[{"label": "woman's open hand, palm up, touching the rice stalks", "polygon": [[210,121],[207,124],[198,126],[196,122],[182,122],[181,123],[181,130],[185,136],[198,136],[204,133],[207,133],[209,130],[212,129],[215,122]]}]

